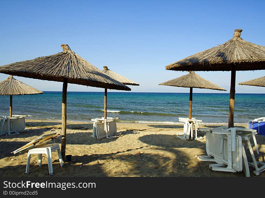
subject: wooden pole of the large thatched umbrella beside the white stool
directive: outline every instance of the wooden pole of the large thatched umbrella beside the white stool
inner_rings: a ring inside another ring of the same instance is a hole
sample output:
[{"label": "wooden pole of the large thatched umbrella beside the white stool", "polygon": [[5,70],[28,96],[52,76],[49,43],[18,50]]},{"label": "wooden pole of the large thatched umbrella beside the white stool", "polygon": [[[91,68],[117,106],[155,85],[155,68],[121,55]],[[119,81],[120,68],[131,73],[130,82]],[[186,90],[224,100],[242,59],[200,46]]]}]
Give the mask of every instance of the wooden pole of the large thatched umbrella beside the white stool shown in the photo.
[{"label": "wooden pole of the large thatched umbrella beside the white stool", "polygon": [[66,148],[66,98],[67,98],[67,78],[64,79],[63,96],[62,96],[62,138],[61,138],[61,154],[65,160]]}]

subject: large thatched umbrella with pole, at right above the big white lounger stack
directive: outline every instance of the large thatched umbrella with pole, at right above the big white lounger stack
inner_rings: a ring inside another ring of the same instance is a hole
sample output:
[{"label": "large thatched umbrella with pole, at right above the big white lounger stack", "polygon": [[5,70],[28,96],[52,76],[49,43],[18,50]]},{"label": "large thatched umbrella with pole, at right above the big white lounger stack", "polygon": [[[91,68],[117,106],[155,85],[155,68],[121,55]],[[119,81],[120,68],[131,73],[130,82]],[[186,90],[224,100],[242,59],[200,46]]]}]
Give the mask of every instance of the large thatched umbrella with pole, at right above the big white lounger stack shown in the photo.
[{"label": "large thatched umbrella with pole, at right above the big white lounger stack", "polygon": [[203,52],[166,66],[175,71],[231,71],[228,127],[234,127],[235,71],[265,69],[265,47],[240,38],[236,29],[233,38]]}]

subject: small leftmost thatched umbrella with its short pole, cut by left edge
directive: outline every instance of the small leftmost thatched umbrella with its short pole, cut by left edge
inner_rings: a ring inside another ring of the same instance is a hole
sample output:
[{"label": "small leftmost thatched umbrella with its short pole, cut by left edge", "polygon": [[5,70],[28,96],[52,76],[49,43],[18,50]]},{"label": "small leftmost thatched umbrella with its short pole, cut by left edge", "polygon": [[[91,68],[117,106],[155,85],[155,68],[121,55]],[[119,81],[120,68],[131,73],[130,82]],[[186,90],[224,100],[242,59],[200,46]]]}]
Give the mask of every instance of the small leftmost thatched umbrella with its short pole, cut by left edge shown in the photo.
[{"label": "small leftmost thatched umbrella with its short pole, cut by left edge", "polygon": [[14,79],[10,75],[7,79],[0,82],[0,95],[10,95],[10,107],[9,107],[9,117],[12,117],[12,102],[13,95],[27,95],[27,94],[40,94],[43,93],[32,86],[22,83],[19,80]]}]

